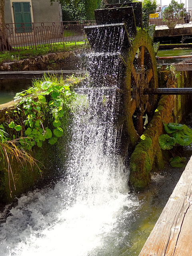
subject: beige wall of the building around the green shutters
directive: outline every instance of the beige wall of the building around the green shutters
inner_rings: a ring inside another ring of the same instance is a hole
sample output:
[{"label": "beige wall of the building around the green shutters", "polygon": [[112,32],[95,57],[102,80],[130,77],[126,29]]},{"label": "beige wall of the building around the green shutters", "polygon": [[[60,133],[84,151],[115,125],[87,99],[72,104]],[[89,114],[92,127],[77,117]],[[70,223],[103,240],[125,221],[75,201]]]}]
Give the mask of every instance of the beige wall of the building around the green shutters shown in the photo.
[{"label": "beige wall of the building around the green shutters", "polygon": [[59,2],[50,5],[50,0],[6,0],[5,22],[14,23],[12,2],[30,2],[32,22],[61,22],[62,10]]}]

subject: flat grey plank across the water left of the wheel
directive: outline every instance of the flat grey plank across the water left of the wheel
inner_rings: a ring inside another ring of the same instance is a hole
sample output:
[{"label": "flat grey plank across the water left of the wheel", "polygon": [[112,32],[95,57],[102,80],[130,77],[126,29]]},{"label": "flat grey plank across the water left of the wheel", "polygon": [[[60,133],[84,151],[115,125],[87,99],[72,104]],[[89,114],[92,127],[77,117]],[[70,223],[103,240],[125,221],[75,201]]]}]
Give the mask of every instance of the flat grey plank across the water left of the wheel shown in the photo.
[{"label": "flat grey plank across the water left of the wheel", "polygon": [[77,70],[0,71],[0,79],[42,78],[44,74],[72,75],[72,74],[82,74],[84,72],[85,71],[77,71]]}]

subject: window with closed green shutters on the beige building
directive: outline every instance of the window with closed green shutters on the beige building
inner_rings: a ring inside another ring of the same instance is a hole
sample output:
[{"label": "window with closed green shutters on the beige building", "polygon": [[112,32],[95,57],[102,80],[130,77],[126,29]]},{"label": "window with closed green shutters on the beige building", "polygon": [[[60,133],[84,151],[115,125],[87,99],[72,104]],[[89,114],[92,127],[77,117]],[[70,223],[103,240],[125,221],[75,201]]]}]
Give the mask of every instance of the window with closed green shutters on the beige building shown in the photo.
[{"label": "window with closed green shutters on the beige building", "polygon": [[17,33],[31,32],[31,9],[30,2],[13,2],[15,27]]}]

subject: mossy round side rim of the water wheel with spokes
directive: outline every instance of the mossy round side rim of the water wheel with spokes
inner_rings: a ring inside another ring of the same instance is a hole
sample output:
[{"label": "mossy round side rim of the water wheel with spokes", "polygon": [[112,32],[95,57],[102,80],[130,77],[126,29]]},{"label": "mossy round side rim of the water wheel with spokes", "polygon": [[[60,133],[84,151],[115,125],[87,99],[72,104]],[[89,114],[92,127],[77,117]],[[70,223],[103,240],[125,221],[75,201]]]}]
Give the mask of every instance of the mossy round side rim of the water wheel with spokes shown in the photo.
[{"label": "mossy round side rim of the water wheel with spokes", "polygon": [[[144,95],[144,88],[157,88],[156,58],[148,33],[138,31],[128,49],[126,61],[126,123],[132,146],[144,132],[145,121],[152,118],[157,96]],[[146,123],[146,122],[145,122]]]}]

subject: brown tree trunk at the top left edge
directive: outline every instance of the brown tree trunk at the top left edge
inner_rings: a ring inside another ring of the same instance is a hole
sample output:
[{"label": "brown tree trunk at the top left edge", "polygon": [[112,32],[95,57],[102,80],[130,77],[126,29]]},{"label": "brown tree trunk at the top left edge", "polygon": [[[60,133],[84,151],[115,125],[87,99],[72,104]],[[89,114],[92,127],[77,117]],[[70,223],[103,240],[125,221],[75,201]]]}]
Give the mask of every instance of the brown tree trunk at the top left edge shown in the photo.
[{"label": "brown tree trunk at the top left edge", "polygon": [[12,50],[8,43],[5,27],[5,13],[4,13],[5,0],[0,0],[0,51]]}]

